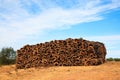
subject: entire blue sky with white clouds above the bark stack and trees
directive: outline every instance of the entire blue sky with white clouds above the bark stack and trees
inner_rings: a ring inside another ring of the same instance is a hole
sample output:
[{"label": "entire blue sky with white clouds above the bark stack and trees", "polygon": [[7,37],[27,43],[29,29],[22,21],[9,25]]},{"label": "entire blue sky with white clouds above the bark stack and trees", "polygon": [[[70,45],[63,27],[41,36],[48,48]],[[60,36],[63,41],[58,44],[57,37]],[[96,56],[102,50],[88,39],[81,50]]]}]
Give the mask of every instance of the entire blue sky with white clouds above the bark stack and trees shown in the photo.
[{"label": "entire blue sky with white clouds above the bark stack and trees", "polygon": [[120,58],[119,26],[120,0],[0,0],[0,49],[82,37]]}]

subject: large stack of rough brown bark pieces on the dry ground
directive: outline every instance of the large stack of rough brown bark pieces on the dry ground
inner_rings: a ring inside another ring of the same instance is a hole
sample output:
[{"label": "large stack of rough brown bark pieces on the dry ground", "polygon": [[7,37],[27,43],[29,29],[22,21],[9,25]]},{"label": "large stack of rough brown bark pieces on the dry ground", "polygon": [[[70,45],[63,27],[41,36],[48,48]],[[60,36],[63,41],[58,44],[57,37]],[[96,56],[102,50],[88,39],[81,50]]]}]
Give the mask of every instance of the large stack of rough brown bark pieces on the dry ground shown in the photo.
[{"label": "large stack of rough brown bark pieces on the dry ground", "polygon": [[99,65],[105,56],[103,43],[68,38],[24,46],[17,50],[16,67]]}]

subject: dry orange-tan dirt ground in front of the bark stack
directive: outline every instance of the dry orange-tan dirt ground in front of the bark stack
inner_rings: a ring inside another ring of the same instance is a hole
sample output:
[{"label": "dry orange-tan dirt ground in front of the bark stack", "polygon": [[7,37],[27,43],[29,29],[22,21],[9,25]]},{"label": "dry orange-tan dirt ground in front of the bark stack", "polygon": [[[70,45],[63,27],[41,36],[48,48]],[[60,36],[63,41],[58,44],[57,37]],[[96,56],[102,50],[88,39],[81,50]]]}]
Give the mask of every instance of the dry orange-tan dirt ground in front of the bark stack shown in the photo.
[{"label": "dry orange-tan dirt ground in front of the bark stack", "polygon": [[120,62],[19,70],[15,70],[15,65],[1,66],[0,80],[120,80]]}]

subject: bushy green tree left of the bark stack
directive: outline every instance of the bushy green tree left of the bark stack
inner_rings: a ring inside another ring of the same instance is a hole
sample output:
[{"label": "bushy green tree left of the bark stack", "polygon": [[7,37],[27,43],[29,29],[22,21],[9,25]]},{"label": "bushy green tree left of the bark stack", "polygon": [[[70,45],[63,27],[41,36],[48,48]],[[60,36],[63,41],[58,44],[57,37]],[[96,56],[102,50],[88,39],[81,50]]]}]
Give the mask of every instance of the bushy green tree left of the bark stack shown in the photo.
[{"label": "bushy green tree left of the bark stack", "polygon": [[12,47],[2,48],[0,52],[0,64],[9,65],[15,63],[16,52]]}]

